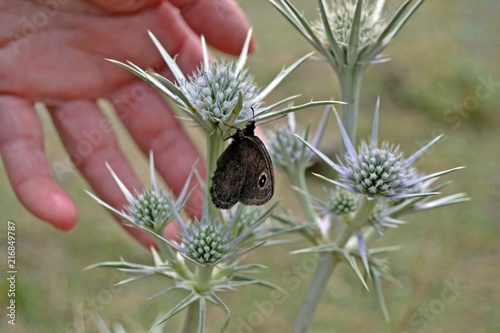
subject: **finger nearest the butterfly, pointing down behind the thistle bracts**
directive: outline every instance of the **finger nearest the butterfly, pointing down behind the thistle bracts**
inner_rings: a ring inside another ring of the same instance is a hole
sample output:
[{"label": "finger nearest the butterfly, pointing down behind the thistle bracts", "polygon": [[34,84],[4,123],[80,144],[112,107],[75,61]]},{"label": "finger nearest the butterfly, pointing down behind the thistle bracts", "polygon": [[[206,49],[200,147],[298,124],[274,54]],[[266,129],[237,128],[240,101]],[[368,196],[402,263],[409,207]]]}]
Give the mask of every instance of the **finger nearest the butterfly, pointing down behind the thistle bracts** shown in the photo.
[{"label": "finger nearest the butterfly, pointing down behind the thistle bracts", "polygon": [[[152,151],[155,165],[175,195],[182,191],[200,155],[163,98],[149,85],[135,81],[109,96],[121,121],[146,154]],[[205,176],[204,164],[196,168]],[[191,181],[190,189],[196,185]],[[200,216],[203,194],[199,186],[193,192],[186,211]]]}]

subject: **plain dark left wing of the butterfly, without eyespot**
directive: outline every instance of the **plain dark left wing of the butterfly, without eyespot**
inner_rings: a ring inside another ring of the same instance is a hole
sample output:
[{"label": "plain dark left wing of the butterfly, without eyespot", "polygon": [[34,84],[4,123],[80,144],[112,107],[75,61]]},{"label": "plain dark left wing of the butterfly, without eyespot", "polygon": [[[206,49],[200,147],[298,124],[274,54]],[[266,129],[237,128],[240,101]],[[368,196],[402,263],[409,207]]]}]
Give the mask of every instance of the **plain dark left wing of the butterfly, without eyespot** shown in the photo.
[{"label": "plain dark left wing of the butterfly, without eyespot", "polygon": [[217,160],[210,195],[217,208],[229,209],[240,199],[247,173],[246,140],[234,140]]}]

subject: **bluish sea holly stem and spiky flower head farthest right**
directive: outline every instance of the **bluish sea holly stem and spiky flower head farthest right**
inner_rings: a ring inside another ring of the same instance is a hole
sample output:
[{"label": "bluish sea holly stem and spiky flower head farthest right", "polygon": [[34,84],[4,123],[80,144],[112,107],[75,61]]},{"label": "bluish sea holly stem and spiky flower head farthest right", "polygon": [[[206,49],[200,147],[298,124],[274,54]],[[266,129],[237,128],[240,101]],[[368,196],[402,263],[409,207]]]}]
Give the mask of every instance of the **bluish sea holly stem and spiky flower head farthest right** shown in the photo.
[{"label": "bluish sea holly stem and spiky flower head farthest right", "polygon": [[[315,229],[320,231],[321,237],[314,240],[313,247],[294,251],[294,253],[325,255],[321,265],[317,267],[304,300],[302,312],[297,320],[297,332],[304,331],[309,325],[314,307],[322,294],[322,287],[325,287],[325,285],[314,283],[315,279],[316,282],[328,281],[327,276],[331,275],[336,265],[342,261],[350,265],[367,289],[369,289],[367,279],[371,279],[381,310],[385,318],[389,320],[381,290],[381,279],[396,280],[388,273],[387,263],[377,258],[376,255],[385,254],[399,247],[369,248],[368,245],[382,236],[387,228],[396,228],[404,224],[405,222],[399,219],[404,214],[468,200],[464,193],[433,198],[440,194],[439,191],[446,184],[439,186],[432,184],[440,176],[462,169],[462,167],[421,175],[412,165],[440,137],[431,140],[408,158],[404,157],[396,145],[382,142],[379,147],[379,103],[377,103],[371,139],[368,143],[361,142],[356,150],[337,112],[335,112],[335,117],[343,142],[347,146],[346,156],[338,162],[332,161],[314,145],[297,136],[304,145],[337,173],[337,179],[314,174],[332,186],[326,200],[309,196],[310,201],[317,207]],[[298,189],[298,191],[301,190]],[[302,198],[299,195],[298,197]],[[364,274],[358,261],[363,267]]]}]

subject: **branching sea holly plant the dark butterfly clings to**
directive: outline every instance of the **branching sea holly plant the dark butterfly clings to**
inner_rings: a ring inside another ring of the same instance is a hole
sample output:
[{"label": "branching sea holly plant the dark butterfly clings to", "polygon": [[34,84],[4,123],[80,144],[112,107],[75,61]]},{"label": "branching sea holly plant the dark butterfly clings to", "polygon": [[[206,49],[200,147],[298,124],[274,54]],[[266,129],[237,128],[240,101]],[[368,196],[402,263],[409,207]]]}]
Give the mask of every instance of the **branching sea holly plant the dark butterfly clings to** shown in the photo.
[{"label": "branching sea holly plant the dark butterfly clings to", "polygon": [[[175,81],[143,70],[133,63],[110,61],[151,84],[180,108],[182,119],[196,123],[203,130],[207,142],[207,179],[200,179],[193,171],[181,194],[175,198],[158,187],[152,154],[151,185],[141,191],[126,188],[108,166],[129,205],[121,210],[115,209],[95,195],[89,194],[118,216],[124,224],[150,234],[156,242],[156,247],[151,249],[153,264],[131,263],[123,259],[95,264],[90,268],[107,267],[130,273],[131,277],[120,284],[160,275],[166,279],[167,286],[156,296],[168,294],[175,289],[185,290],[185,298],[161,315],[153,327],[159,327],[175,314],[186,310],[183,332],[204,332],[207,306],[212,304],[226,313],[226,320],[221,325],[223,331],[229,323],[230,309],[219,297],[220,292],[246,285],[259,285],[284,292],[278,286],[255,277],[253,274],[263,266],[243,264],[242,256],[273,237],[292,230],[273,229],[264,225],[277,203],[267,208],[236,205],[229,211],[221,211],[214,206],[208,189],[217,159],[228,142],[226,139],[234,134],[237,128],[250,121],[258,124],[311,106],[337,102],[310,101],[294,105],[293,101],[297,96],[291,96],[266,105],[264,99],[269,93],[311,54],[283,68],[267,87],[259,89],[253,76],[245,68],[251,31],[236,61],[210,59],[205,40],[201,37],[203,62],[196,71],[187,76],[175,63],[175,56],[168,54],[153,34],[150,33],[150,37],[173,73]],[[188,188],[192,188],[193,178],[205,194],[199,218],[188,218],[184,214],[185,204],[191,194]],[[173,220],[178,223],[180,233],[175,239],[167,239],[164,229]],[[103,327],[102,320],[100,323],[99,327]]]}]

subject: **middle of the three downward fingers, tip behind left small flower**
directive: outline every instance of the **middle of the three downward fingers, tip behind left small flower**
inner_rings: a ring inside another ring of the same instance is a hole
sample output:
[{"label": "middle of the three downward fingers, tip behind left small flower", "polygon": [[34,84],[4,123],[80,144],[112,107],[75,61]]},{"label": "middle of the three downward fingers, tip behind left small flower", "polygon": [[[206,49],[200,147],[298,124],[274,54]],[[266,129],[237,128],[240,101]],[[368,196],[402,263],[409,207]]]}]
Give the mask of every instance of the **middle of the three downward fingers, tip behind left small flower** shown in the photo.
[{"label": "middle of the three downward fingers, tip behind left small flower", "polygon": [[[112,124],[90,100],[68,102],[49,110],[71,160],[95,194],[116,209],[123,209],[128,202],[105,164],[130,191],[141,191],[142,185],[118,146]],[[141,243],[153,244],[149,235],[132,227],[125,229]]]}]

